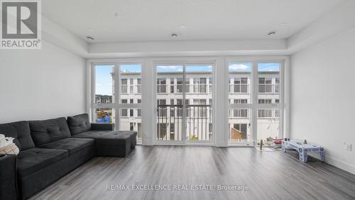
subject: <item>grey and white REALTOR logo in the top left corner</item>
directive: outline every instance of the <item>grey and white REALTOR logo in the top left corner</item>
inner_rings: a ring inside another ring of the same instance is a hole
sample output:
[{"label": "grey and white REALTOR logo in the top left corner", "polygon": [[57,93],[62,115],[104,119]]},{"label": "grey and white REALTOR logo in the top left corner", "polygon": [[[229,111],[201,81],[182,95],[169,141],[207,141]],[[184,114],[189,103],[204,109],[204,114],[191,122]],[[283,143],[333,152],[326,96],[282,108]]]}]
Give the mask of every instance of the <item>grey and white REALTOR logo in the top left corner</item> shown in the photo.
[{"label": "grey and white REALTOR logo in the top left corner", "polygon": [[40,49],[40,0],[1,0],[1,49]]}]

